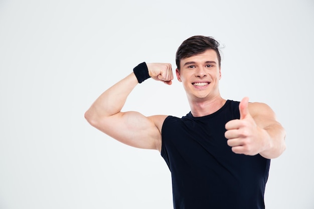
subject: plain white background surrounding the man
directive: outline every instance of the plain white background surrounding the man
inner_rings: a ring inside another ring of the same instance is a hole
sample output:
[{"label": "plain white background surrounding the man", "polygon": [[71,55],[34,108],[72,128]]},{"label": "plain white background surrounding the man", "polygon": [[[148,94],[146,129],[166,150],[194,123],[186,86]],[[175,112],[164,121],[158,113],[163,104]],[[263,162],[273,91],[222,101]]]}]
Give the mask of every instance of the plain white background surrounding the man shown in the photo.
[{"label": "plain white background surrounding the man", "polygon": [[[194,35],[223,47],[222,97],[265,102],[286,129],[266,208],[314,208],[312,0],[1,0],[0,208],[172,208],[160,153],[115,141],[84,112],[140,62],[175,70]],[[177,80],[145,81],[123,110],[190,111]]]}]

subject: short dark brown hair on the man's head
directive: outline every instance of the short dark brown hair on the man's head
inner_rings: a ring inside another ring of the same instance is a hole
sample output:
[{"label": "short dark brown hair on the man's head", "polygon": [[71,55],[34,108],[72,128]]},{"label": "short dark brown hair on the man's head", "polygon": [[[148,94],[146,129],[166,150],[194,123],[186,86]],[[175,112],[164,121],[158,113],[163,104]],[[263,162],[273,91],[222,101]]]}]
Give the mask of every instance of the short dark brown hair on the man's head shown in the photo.
[{"label": "short dark brown hair on the man's head", "polygon": [[201,54],[208,49],[213,49],[217,53],[218,64],[220,67],[221,57],[219,53],[219,43],[213,37],[193,36],[185,40],[176,53],[176,64],[180,70],[180,61],[183,58]]}]

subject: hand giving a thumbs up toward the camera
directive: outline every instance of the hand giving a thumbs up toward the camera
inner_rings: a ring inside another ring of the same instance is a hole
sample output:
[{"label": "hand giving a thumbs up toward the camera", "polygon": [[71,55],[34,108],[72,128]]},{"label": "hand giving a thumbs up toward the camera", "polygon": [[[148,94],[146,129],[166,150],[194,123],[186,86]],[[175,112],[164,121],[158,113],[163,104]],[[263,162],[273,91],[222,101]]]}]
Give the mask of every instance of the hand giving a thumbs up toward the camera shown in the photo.
[{"label": "hand giving a thumbs up toward the camera", "polygon": [[225,137],[234,153],[256,155],[265,149],[265,131],[256,125],[248,104],[249,98],[244,97],[239,104],[240,119],[226,123]]}]

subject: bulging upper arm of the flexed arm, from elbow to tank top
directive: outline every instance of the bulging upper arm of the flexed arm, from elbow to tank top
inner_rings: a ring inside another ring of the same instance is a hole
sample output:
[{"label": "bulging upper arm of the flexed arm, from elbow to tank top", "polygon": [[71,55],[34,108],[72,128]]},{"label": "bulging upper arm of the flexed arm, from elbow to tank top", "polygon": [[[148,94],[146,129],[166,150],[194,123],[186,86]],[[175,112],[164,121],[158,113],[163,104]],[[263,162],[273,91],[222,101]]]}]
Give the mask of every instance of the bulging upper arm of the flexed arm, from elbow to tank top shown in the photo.
[{"label": "bulging upper arm of the flexed arm, from elbow to tank top", "polygon": [[139,112],[119,112],[92,124],[100,131],[129,146],[161,149],[161,128],[166,115],[146,117]]}]

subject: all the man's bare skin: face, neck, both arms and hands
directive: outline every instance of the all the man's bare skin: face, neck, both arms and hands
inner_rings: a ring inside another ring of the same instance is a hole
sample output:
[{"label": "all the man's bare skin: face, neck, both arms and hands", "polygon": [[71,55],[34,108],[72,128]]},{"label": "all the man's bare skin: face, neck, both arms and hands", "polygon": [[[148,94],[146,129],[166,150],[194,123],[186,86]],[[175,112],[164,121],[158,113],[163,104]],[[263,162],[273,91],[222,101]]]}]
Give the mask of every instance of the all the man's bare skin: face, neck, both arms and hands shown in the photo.
[{"label": "all the man's bare skin: face, neck, both arms and hands", "polygon": [[[226,102],[220,96],[221,70],[217,54],[207,50],[181,60],[176,69],[195,117],[209,115],[219,110]],[[147,64],[152,79],[171,85],[171,64]],[[130,94],[138,84],[131,73],[104,93],[86,111],[87,121],[100,131],[127,145],[161,151],[161,129],[167,115],[146,117],[139,112],[121,112]],[[249,103],[245,97],[239,105],[240,119],[226,124],[225,137],[232,151],[239,154],[260,154],[265,158],[278,157],[285,149],[285,131],[276,121],[275,114],[263,103]]]}]

